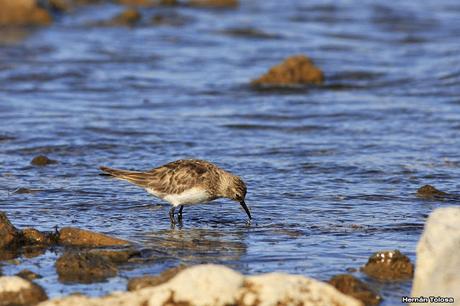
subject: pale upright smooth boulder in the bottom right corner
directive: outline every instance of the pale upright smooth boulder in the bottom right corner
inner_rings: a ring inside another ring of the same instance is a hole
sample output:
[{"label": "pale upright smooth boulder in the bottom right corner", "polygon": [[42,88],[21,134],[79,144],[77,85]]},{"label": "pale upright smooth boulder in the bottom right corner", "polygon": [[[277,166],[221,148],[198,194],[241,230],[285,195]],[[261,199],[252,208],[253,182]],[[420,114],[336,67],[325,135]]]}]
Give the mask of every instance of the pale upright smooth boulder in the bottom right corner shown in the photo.
[{"label": "pale upright smooth boulder in the bottom right corner", "polygon": [[[412,296],[448,296],[460,301],[460,207],[438,208],[417,245]],[[452,304],[450,304],[452,305]]]}]

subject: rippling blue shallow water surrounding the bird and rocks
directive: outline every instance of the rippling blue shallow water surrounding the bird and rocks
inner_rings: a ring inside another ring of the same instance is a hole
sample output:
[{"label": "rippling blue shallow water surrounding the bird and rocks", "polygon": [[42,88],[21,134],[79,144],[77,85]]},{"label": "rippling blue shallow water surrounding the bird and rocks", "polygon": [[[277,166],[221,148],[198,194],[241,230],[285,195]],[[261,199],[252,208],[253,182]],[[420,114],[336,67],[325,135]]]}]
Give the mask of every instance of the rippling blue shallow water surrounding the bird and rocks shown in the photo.
[{"label": "rippling blue shallow water surrounding the bird and rocks", "polygon": [[[88,25],[120,9],[85,7],[0,47],[0,209],[18,227],[129,239],[153,260],[108,283],[63,285],[60,250],[50,250],[5,264],[5,274],[30,268],[52,297],[123,290],[127,277],[180,262],[325,280],[382,249],[414,261],[427,215],[457,204],[415,197],[424,184],[460,188],[457,1],[257,0],[142,11],[179,14],[183,26]],[[232,31],[241,28],[264,35]],[[248,86],[299,53],[324,70],[325,85]],[[30,166],[39,154],[59,163]],[[186,207],[183,228],[171,230],[165,203],[98,175],[99,165],[179,158],[242,176],[254,222],[217,200]],[[40,192],[13,194],[19,187]],[[411,284],[373,285],[389,306]]]}]

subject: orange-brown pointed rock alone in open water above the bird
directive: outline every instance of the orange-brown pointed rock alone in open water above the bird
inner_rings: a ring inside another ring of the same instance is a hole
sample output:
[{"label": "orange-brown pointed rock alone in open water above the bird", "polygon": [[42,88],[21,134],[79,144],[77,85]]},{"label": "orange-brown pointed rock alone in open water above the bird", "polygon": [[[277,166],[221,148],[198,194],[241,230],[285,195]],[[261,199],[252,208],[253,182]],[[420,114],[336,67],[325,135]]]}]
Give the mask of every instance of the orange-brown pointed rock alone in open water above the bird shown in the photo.
[{"label": "orange-brown pointed rock alone in open water above the bird", "polygon": [[323,72],[306,56],[288,57],[281,64],[272,67],[266,74],[253,80],[255,86],[284,86],[298,84],[321,84]]}]

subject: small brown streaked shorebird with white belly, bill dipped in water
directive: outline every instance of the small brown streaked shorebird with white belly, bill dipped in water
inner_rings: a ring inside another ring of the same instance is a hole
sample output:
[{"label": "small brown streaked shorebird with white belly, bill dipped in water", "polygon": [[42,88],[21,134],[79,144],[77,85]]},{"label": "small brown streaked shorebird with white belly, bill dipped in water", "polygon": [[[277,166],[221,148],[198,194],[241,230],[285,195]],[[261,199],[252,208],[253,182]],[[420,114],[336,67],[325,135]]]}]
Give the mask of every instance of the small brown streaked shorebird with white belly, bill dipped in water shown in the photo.
[{"label": "small brown streaked shorebird with white belly, bill dipped in water", "polygon": [[246,184],[236,175],[204,160],[177,160],[149,171],[128,171],[108,167],[100,169],[118,179],[126,180],[148,193],[169,202],[171,223],[175,224],[174,211],[179,208],[178,221],[182,221],[184,205],[228,198],[240,203],[249,219],[251,213],[244,202]]}]

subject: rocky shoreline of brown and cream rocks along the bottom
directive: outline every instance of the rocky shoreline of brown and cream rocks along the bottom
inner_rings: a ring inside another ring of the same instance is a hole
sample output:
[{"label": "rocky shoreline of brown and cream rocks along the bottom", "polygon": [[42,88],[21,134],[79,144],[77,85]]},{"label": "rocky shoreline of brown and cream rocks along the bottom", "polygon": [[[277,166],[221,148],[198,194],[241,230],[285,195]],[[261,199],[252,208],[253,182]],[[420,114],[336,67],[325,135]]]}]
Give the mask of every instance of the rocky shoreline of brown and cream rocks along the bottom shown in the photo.
[{"label": "rocky shoreline of brown and cream rocks along the bottom", "polygon": [[[417,249],[414,296],[456,296],[459,279],[452,274],[458,256],[451,252],[460,208],[435,210],[429,217]],[[142,253],[129,241],[78,228],[62,228],[42,233],[19,230],[0,213],[2,259],[13,259],[31,249],[63,247],[55,263],[59,281],[93,283],[113,277],[132,259],[142,261]],[[433,241],[440,248],[432,248]],[[438,254],[439,253],[439,254]],[[5,255],[7,254],[7,255]],[[6,257],[5,257],[6,256]],[[441,258],[439,262],[437,258]],[[447,259],[447,260],[443,260]],[[380,251],[370,256],[361,271],[379,282],[410,281],[414,266],[398,250]],[[371,285],[351,274],[332,277],[328,282],[300,275],[267,273],[244,276],[220,265],[178,266],[160,275],[131,278],[126,292],[103,297],[71,295],[48,300],[45,291],[33,282],[31,271],[0,277],[0,297],[6,305],[378,305],[384,297]],[[454,281],[446,282],[446,277]],[[454,305],[457,305],[454,303]]]}]

